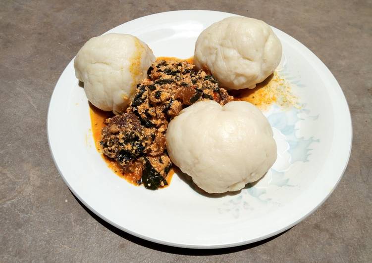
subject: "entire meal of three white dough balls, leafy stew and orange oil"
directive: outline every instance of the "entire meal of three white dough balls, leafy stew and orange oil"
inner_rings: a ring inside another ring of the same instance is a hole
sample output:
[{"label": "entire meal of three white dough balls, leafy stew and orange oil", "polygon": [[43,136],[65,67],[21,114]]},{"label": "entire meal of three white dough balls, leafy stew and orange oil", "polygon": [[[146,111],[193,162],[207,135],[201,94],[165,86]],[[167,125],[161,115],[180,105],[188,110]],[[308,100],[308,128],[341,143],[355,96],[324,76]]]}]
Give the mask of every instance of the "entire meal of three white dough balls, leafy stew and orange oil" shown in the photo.
[{"label": "entire meal of three white dough balls, leafy stew and orange oil", "polygon": [[229,17],[200,34],[188,61],[156,59],[136,37],[106,34],[84,44],[74,67],[98,108],[91,105],[92,132],[115,173],[154,190],[169,183],[174,163],[222,193],[258,180],[276,159],[270,125],[244,100],[262,109],[295,103],[272,74],[281,52],[265,22]]}]

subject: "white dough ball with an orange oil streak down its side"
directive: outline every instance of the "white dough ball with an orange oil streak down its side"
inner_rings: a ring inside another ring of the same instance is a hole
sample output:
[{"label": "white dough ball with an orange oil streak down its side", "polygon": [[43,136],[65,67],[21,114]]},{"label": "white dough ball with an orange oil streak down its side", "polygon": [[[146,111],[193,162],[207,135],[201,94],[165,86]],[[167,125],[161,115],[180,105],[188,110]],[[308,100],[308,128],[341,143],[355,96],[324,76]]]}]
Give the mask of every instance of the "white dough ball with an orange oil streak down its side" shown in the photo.
[{"label": "white dough ball with an orange oil streak down its side", "polygon": [[149,46],[126,34],[90,39],[74,61],[75,75],[84,82],[89,101],[104,111],[122,113],[141,79],[155,61]]}]

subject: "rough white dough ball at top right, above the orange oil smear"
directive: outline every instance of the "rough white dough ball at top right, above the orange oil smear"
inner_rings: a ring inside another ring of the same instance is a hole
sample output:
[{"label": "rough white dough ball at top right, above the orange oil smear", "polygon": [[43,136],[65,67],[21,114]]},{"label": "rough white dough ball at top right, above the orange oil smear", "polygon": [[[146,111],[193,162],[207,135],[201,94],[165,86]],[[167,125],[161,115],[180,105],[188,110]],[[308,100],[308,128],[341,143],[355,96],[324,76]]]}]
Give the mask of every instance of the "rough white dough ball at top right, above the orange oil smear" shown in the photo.
[{"label": "rough white dough ball at top right, above the orange oil smear", "polygon": [[224,88],[255,88],[278,66],[279,39],[264,21],[228,17],[204,30],[195,45],[194,63],[209,70]]}]

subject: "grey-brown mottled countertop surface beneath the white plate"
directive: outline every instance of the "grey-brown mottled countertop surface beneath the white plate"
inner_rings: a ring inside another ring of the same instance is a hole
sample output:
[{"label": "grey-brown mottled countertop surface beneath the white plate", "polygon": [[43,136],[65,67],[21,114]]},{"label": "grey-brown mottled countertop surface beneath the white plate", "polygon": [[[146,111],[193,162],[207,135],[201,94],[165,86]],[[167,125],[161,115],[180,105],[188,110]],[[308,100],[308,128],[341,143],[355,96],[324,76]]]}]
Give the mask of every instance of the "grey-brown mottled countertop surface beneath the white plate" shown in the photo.
[{"label": "grey-brown mottled countertop surface beneath the white plate", "polygon": [[[48,104],[79,48],[126,21],[179,9],[266,21],[308,46],[345,93],[354,133],[346,172],[314,214],[279,236],[207,251],[153,244],[89,212],[53,164]],[[0,1],[0,262],[372,262],[371,64],[370,0]]]}]

